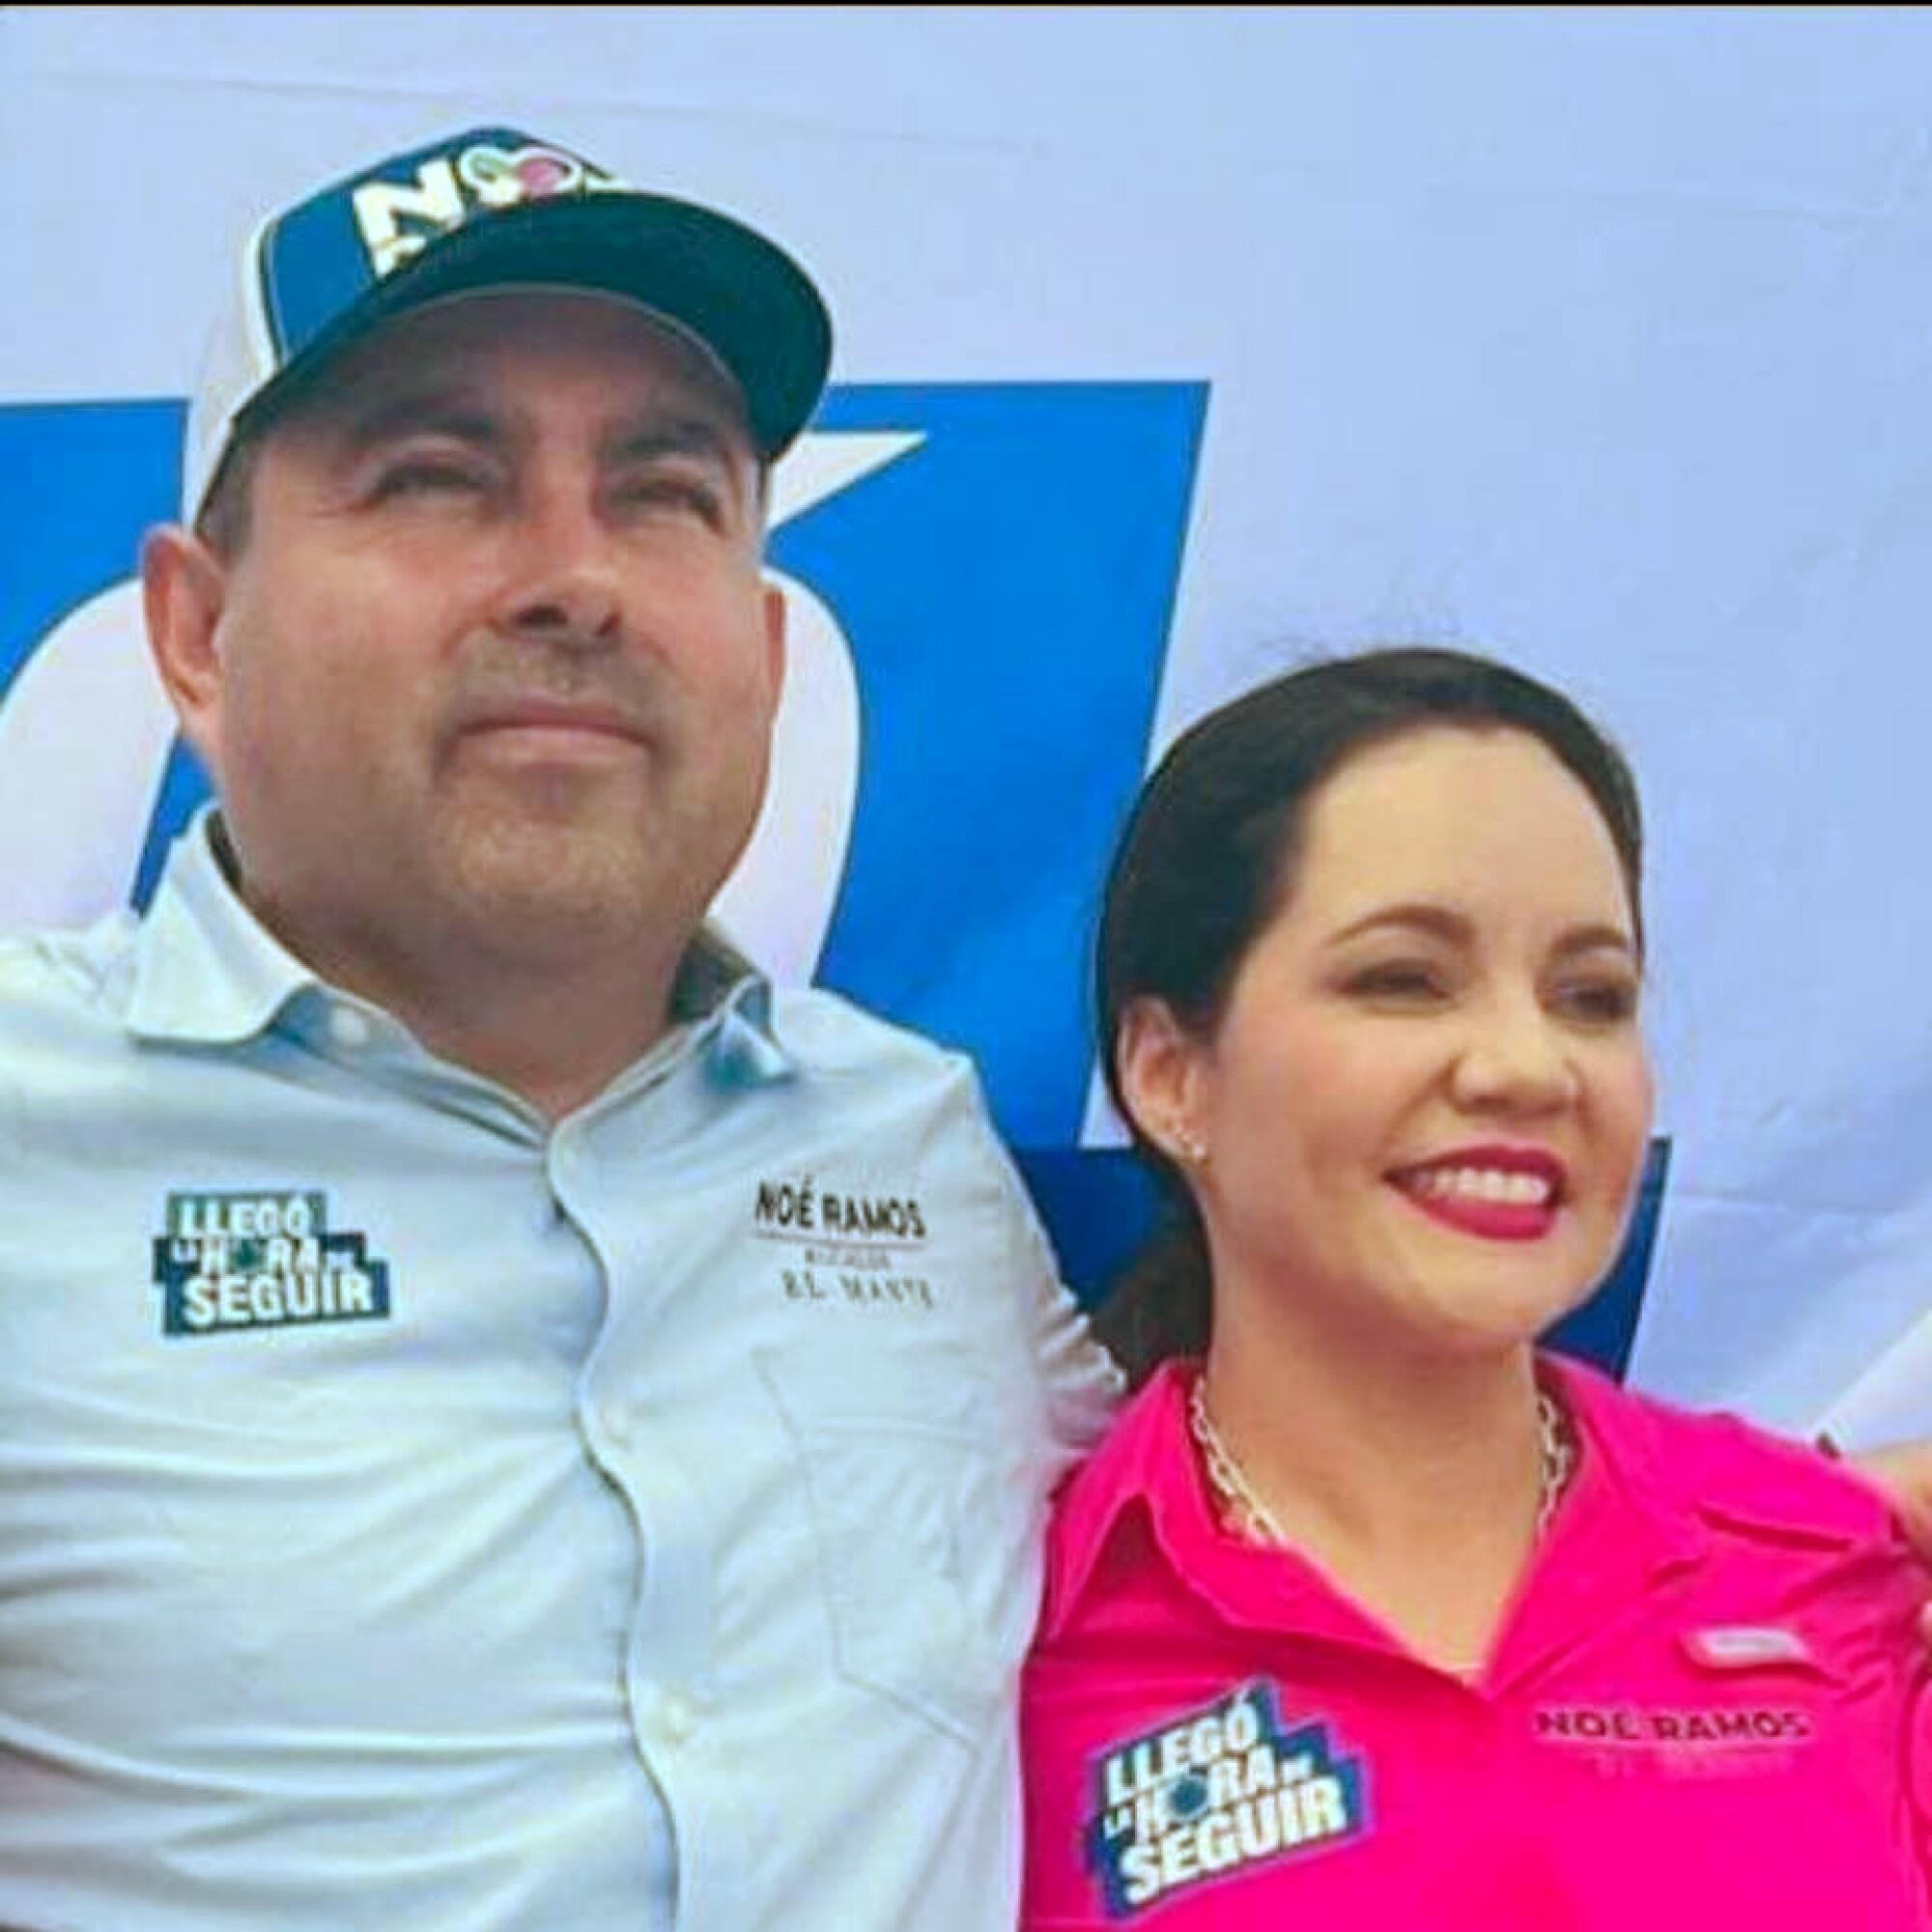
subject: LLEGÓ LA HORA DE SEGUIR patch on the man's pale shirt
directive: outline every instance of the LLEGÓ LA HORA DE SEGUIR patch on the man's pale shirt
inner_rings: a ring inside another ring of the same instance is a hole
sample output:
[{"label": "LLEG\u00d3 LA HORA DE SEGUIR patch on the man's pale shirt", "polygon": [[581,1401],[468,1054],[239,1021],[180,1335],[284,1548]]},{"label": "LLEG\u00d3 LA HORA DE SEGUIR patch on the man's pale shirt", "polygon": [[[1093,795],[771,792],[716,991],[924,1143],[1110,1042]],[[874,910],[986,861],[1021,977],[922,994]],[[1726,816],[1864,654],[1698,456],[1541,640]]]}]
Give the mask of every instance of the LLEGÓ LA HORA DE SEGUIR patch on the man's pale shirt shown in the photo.
[{"label": "LLEG\u00d3 LA HORA DE SEGUIR patch on the man's pale shirt", "polygon": [[388,1262],[321,1188],[168,1194],[155,1287],[168,1337],[388,1320]]}]

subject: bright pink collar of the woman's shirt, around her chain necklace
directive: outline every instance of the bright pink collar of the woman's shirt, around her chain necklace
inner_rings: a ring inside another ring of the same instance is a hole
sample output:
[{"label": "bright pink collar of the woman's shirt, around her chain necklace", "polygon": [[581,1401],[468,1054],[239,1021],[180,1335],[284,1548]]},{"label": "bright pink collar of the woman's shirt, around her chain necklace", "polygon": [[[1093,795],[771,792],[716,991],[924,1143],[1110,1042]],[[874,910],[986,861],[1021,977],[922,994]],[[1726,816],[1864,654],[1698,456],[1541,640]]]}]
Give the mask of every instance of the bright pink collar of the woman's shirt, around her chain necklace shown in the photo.
[{"label": "bright pink collar of the woman's shirt, around her chain necklace", "polygon": [[[1066,1486],[1043,1634],[1065,1633],[1088,1592],[1103,1588],[1117,1546],[1132,1561],[1138,1528],[1180,1582],[1233,1621],[1325,1631],[1385,1648],[1378,1627],[1312,1565],[1291,1559],[1285,1567],[1281,1551],[1250,1548],[1221,1530],[1188,1428],[1188,1391],[1198,1368],[1196,1362],[1165,1362]],[[1648,1408],[1577,1362],[1542,1356],[1540,1372],[1557,1389],[1582,1453],[1538,1555],[1532,1586],[1540,1584],[1536,1573],[1553,1573],[1559,1582],[1569,1573],[1567,1580],[1582,1586],[1586,1578],[1575,1573],[1571,1553],[1605,1536],[1615,1538],[1633,1567],[1650,1575],[1698,1561],[1710,1548],[1698,1497],[1675,1480]],[[1602,1584],[1604,1577],[1592,1571],[1588,1580]],[[1557,1596],[1567,1594],[1557,1590]]]}]

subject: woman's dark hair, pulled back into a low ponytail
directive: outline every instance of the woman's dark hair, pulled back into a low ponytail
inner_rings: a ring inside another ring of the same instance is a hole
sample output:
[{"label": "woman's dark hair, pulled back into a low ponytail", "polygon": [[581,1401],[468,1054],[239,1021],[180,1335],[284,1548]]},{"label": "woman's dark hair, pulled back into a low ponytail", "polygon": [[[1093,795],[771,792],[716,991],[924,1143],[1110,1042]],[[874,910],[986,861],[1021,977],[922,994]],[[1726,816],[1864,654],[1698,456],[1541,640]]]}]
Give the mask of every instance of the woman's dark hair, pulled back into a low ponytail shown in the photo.
[{"label": "woman's dark hair, pulled back into a low ponytail", "polygon": [[1121,1094],[1121,1020],[1155,997],[1211,1036],[1248,947],[1293,889],[1308,800],[1352,753],[1432,724],[1528,732],[1575,775],[1609,829],[1642,939],[1636,781],[1577,705],[1520,670],[1464,651],[1364,651],[1291,670],[1186,730],[1128,819],[1095,949],[1099,1063],[1169,1206],[1167,1229],[1095,1316],[1134,1383],[1208,1347],[1209,1273],[1194,1196]]}]

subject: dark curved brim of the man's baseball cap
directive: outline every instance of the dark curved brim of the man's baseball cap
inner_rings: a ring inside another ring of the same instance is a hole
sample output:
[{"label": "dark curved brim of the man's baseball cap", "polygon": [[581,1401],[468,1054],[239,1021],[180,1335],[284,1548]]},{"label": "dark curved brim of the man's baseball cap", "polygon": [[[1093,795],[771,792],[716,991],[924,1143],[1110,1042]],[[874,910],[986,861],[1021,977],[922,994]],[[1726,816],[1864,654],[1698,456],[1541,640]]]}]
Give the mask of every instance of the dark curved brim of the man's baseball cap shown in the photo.
[{"label": "dark curved brim of the man's baseball cap", "polygon": [[344,309],[242,415],[410,309],[527,286],[618,296],[696,336],[738,384],[767,462],[806,427],[825,388],[831,319],[804,269],[726,214],[626,189],[531,201],[444,236]]}]

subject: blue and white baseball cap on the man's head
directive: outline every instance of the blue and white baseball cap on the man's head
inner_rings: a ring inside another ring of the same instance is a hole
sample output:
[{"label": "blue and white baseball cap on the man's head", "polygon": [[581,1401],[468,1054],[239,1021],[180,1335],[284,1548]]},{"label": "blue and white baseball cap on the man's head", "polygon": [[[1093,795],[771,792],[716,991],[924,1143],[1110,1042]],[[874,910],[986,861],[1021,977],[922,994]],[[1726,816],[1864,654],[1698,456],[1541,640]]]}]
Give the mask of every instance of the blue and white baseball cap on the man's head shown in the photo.
[{"label": "blue and white baseball cap on the man's head", "polygon": [[236,429],[327,357],[423,303],[491,288],[649,309],[730,377],[767,462],[825,386],[831,319],[775,242],[630,187],[554,141],[471,128],[332,182],[249,238],[187,408],[185,516],[201,512]]}]

